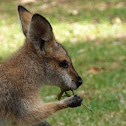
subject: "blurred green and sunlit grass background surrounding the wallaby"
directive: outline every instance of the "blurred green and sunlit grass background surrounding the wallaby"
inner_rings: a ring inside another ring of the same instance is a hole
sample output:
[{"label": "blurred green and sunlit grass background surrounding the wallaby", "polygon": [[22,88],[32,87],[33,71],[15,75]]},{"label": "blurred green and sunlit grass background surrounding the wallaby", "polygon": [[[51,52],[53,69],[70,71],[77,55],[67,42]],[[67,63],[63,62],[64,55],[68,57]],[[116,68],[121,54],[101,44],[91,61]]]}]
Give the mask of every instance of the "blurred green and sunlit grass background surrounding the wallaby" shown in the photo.
[{"label": "blurred green and sunlit grass background surrounding the wallaby", "polygon": [[[0,61],[24,42],[17,0],[0,0]],[[36,0],[24,5],[45,16],[83,78],[75,91],[83,106],[49,117],[53,126],[126,126],[126,1]],[[57,87],[43,87],[44,102],[56,101]]]}]

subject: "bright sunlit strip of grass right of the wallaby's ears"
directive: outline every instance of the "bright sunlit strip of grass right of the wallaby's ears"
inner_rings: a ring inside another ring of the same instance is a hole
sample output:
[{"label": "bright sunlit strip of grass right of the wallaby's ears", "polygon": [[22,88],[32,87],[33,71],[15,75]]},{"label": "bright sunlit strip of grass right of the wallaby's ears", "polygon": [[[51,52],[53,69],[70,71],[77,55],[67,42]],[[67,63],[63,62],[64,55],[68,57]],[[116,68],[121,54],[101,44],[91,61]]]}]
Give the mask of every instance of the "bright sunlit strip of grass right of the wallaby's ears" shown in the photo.
[{"label": "bright sunlit strip of grass right of the wallaby's ears", "polygon": [[[60,23],[54,24],[54,33],[59,42],[78,43],[89,40],[126,37],[126,24],[110,23]],[[58,34],[57,34],[58,33]]]}]

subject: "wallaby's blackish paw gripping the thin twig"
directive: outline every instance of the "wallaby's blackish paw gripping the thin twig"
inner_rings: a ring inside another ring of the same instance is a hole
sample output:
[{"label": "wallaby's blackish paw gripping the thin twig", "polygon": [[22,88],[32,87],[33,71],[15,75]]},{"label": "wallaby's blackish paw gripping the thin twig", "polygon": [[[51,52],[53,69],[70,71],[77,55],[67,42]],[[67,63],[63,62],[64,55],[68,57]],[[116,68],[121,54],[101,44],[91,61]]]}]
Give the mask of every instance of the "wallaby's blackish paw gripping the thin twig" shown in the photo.
[{"label": "wallaby's blackish paw gripping the thin twig", "polygon": [[63,101],[67,103],[68,107],[78,107],[81,105],[81,102],[83,101],[83,99],[80,96],[74,95],[74,96],[64,99]]}]

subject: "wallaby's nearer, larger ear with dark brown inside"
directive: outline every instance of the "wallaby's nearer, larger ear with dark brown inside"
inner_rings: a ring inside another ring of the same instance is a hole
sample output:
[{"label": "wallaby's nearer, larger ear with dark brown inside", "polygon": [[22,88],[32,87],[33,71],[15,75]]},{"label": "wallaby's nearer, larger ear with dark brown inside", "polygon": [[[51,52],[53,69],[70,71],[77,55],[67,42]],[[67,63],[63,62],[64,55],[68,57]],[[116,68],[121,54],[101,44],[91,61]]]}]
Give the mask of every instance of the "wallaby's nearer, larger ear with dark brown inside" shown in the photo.
[{"label": "wallaby's nearer, larger ear with dark brown inside", "polygon": [[50,23],[41,15],[34,14],[28,29],[28,36],[35,48],[44,53],[51,51],[54,36]]}]

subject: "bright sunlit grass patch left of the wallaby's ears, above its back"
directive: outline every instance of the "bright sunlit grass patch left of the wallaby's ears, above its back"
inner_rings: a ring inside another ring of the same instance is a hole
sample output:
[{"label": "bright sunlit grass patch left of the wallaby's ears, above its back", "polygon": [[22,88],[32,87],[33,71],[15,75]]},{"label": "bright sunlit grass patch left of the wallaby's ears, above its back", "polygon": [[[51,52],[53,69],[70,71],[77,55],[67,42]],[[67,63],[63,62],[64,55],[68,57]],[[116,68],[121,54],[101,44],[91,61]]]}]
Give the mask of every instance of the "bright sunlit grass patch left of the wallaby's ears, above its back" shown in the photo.
[{"label": "bright sunlit grass patch left of the wallaby's ears, above its back", "polygon": [[[11,25],[2,25],[0,27],[0,59],[11,56],[24,41],[24,35],[21,33],[20,25],[17,23]],[[6,36],[6,37],[5,37]]]}]

